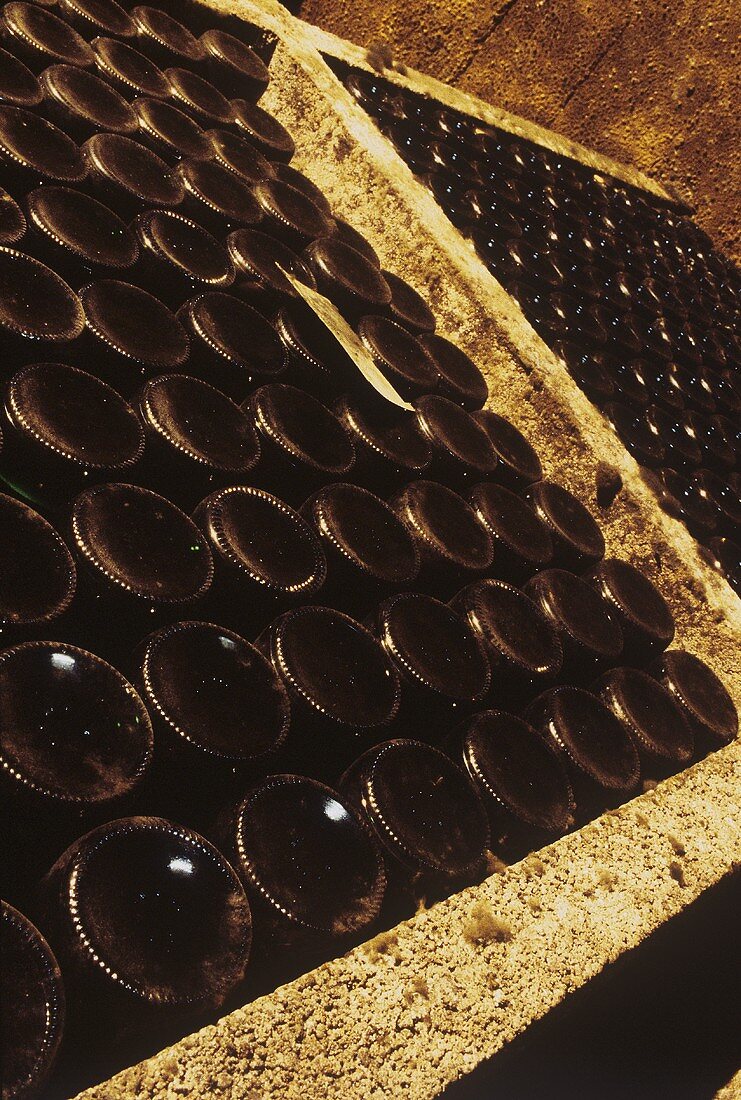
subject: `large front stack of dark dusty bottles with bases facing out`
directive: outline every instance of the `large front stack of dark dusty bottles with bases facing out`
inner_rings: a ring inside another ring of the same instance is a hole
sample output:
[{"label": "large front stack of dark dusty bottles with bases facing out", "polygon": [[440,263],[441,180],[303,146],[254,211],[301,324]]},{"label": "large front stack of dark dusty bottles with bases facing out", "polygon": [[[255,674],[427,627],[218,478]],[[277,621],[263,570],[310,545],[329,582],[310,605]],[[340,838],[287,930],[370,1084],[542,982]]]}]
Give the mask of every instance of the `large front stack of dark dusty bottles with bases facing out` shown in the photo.
[{"label": "large front stack of dark dusty bottles with bases facing out", "polygon": [[0,13],[3,1100],[737,733],[659,590],[291,166],[239,26]]}]

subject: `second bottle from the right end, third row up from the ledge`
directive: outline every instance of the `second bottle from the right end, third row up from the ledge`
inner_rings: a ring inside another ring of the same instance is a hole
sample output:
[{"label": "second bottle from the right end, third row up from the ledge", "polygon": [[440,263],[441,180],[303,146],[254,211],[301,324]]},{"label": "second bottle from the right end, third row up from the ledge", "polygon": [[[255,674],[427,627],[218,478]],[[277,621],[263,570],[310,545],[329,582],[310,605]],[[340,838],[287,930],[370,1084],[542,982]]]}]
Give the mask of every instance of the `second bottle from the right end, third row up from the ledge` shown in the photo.
[{"label": "second bottle from the right end, third row up from the ledge", "polygon": [[468,499],[491,536],[499,580],[519,584],[551,564],[551,532],[522,497],[504,485],[485,482],[472,490]]}]

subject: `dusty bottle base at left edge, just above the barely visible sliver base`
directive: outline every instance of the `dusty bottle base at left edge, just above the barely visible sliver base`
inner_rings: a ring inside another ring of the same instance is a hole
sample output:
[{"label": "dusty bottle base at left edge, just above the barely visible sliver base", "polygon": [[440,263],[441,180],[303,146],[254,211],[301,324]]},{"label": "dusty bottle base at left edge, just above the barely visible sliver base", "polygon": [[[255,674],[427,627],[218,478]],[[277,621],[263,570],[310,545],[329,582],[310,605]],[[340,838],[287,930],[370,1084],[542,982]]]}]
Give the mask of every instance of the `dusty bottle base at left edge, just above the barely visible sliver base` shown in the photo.
[{"label": "dusty bottle base at left edge, just above the barely visible sliver base", "polygon": [[0,107],[3,183],[21,195],[40,183],[78,184],[87,174],[78,146],[41,114]]}]

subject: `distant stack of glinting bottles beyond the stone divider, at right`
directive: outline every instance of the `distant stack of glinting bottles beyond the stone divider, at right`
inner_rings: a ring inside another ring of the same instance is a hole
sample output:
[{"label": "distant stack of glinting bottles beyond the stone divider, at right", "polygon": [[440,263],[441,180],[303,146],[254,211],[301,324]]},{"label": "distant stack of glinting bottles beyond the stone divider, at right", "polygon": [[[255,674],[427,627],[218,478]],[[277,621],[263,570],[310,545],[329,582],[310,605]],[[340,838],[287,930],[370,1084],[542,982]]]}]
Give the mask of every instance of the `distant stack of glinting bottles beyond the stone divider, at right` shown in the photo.
[{"label": "distant stack of glinting bottles beyond the stone divider, at right", "polygon": [[741,592],[741,274],[677,205],[338,65]]}]

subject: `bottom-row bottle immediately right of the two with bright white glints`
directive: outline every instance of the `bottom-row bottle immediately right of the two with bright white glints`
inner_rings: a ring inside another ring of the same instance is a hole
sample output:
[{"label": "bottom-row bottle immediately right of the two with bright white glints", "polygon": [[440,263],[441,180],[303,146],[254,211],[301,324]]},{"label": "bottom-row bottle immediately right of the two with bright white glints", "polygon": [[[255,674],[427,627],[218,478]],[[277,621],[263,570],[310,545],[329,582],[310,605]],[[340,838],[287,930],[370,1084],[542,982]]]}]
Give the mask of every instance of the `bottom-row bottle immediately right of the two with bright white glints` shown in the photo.
[{"label": "bottom-row bottle immediately right of the two with bright white glints", "polygon": [[439,749],[406,738],[376,745],[339,789],[380,840],[392,917],[483,876],[484,805],[464,769]]}]

